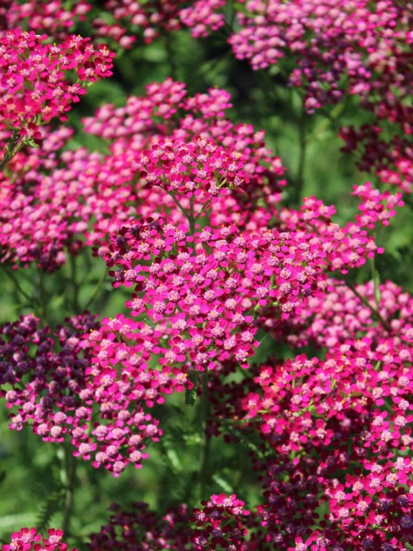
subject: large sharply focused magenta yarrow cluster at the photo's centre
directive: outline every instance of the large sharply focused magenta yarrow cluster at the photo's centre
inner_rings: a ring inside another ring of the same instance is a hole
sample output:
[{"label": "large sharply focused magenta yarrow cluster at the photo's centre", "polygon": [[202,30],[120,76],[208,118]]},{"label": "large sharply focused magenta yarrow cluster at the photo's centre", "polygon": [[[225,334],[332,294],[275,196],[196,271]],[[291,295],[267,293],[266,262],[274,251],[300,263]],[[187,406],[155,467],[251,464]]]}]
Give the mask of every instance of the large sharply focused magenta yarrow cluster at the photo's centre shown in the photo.
[{"label": "large sharply focused magenta yarrow cluster at the photo's centre", "polygon": [[127,306],[153,324],[169,325],[168,364],[191,360],[204,371],[226,357],[246,366],[253,355],[254,315],[272,305],[287,319],[324,286],[318,260],[301,236],[263,231],[242,235],[235,226],[187,227],[162,220],[123,227],[106,256],[114,287],[134,288]]}]

